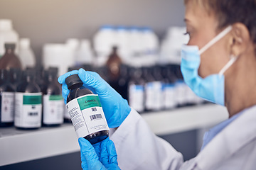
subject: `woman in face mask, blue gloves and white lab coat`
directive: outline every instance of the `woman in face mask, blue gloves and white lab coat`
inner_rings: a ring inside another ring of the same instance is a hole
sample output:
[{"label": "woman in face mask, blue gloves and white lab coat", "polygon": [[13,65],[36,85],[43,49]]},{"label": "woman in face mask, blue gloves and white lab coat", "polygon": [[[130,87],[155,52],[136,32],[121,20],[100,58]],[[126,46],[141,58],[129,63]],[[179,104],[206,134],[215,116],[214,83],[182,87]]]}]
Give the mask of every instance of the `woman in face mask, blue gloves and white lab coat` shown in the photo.
[{"label": "woman in face mask, blue gloves and white lab coat", "polygon": [[[183,162],[180,153],[156,137],[93,72],[78,74],[99,94],[111,140],[90,145],[79,139],[83,169],[255,169],[256,167],[256,1],[185,0],[188,45],[182,47],[181,72],[186,84],[208,101],[225,105],[230,118],[210,130],[197,157]],[[117,164],[117,149],[119,166]]]}]

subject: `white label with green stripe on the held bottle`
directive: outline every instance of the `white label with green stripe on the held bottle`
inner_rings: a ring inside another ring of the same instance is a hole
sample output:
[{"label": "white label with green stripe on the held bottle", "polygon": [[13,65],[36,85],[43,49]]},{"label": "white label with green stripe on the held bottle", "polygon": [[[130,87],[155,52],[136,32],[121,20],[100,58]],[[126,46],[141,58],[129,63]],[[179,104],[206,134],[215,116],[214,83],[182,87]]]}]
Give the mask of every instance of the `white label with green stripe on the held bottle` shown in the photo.
[{"label": "white label with green stripe on the held bottle", "polygon": [[97,95],[75,98],[67,103],[67,108],[78,138],[102,130],[110,130]]}]

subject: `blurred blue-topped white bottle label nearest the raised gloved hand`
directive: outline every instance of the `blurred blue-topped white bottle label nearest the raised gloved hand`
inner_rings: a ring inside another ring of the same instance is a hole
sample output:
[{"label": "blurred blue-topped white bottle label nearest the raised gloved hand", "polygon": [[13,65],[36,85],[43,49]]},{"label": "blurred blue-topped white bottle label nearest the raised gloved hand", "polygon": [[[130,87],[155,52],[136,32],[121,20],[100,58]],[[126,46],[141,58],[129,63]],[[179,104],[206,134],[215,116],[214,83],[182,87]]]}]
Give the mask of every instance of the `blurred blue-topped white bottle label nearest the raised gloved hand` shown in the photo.
[{"label": "blurred blue-topped white bottle label nearest the raised gloved hand", "polygon": [[129,85],[129,106],[138,112],[144,111],[144,86]]}]

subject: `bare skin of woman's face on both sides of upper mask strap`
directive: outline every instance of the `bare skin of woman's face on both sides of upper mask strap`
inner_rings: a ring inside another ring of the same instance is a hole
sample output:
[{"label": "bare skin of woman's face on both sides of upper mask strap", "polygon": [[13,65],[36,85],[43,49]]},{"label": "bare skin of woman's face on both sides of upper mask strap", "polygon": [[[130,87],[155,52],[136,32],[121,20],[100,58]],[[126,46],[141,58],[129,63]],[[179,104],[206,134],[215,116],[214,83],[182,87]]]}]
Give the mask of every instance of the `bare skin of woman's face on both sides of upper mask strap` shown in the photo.
[{"label": "bare skin of woman's face on both sides of upper mask strap", "polygon": [[[190,35],[188,45],[197,45],[201,49],[222,30],[218,30],[218,21],[213,13],[205,8],[188,2],[186,5],[185,22],[187,33]],[[229,35],[229,34],[228,34]],[[230,60],[229,36],[216,42],[201,55],[201,65],[198,74],[205,78],[210,74],[218,74]]]}]

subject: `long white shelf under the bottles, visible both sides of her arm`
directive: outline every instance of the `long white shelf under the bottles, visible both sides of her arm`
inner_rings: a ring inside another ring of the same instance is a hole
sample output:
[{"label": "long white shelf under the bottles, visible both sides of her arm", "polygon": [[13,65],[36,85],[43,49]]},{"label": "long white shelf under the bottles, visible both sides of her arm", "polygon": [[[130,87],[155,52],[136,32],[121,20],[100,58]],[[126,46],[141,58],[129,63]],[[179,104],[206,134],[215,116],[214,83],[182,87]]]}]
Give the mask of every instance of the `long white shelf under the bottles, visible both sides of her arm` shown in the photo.
[{"label": "long white shelf under the bottles, visible both sides of her arm", "polygon": [[[222,106],[213,104],[146,113],[142,117],[156,135],[168,135],[210,127],[228,118]],[[0,129],[0,166],[80,151],[73,125],[24,131]]]}]

